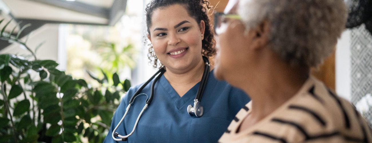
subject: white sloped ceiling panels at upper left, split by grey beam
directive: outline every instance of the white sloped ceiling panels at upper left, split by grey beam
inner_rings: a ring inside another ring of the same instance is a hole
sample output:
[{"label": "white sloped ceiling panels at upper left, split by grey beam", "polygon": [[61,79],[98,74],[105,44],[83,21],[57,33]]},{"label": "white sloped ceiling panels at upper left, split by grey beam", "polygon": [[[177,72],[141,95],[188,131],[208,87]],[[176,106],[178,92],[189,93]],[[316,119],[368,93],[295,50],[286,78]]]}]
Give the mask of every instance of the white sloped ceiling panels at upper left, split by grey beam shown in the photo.
[{"label": "white sloped ceiling panels at upper left, split by grey beam", "polygon": [[[105,17],[89,13],[80,13],[62,7],[52,6],[32,0],[0,0],[10,9],[17,19],[35,19],[71,23],[107,24]],[[51,0],[52,1],[52,0]],[[56,0],[58,1],[58,0]],[[64,0],[61,0],[64,1]],[[110,9],[114,0],[76,0],[77,2]],[[0,3],[1,4],[1,3]],[[3,14],[1,14],[3,15]],[[3,16],[4,17],[4,16]],[[1,18],[1,17],[0,17]]]}]

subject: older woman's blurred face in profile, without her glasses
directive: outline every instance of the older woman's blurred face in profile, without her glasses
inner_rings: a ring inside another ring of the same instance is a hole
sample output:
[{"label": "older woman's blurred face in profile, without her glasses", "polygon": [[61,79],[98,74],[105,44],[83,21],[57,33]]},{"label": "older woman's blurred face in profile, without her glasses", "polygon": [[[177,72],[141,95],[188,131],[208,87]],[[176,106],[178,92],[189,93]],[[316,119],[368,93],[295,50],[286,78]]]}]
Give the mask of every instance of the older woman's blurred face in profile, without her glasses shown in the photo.
[{"label": "older woman's blurred face in profile, without her glasses", "polygon": [[[230,0],[224,13],[237,14],[238,0]],[[234,85],[242,75],[247,75],[250,55],[248,48],[251,43],[247,40],[245,27],[240,20],[224,19],[221,30],[216,36],[217,55],[215,57],[215,76]],[[237,86],[237,85],[235,85]]]}]

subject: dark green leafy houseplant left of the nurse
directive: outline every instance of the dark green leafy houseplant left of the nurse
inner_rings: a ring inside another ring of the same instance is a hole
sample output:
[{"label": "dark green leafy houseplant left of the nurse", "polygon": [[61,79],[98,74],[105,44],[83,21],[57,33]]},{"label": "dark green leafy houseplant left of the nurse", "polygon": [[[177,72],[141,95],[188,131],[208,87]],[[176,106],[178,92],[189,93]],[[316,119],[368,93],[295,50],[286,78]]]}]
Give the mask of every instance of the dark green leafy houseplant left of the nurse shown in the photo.
[{"label": "dark green leafy houseplant left of the nurse", "polygon": [[91,75],[101,85],[112,79],[113,85],[90,87],[58,70],[57,62],[36,59],[19,39],[26,26],[13,36],[4,32],[8,24],[0,39],[25,46],[33,59],[0,55],[0,142],[81,142],[81,137],[102,142],[129,80],[121,82],[116,73],[110,79]]}]

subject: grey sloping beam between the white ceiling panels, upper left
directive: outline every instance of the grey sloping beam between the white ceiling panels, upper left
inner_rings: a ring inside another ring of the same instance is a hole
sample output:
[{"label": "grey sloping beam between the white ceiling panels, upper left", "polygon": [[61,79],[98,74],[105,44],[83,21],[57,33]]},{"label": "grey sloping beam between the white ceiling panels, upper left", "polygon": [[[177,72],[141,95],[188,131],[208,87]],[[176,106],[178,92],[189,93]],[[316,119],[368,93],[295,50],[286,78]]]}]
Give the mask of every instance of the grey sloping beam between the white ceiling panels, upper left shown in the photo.
[{"label": "grey sloping beam between the white ceiling panels, upper left", "polygon": [[110,10],[105,7],[93,6],[91,4],[82,3],[79,1],[65,1],[65,0],[28,0],[47,4],[50,6],[60,7],[63,9],[73,10],[75,12],[90,14],[92,16],[109,19]]}]

